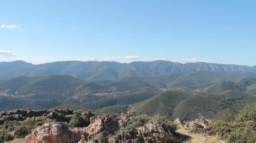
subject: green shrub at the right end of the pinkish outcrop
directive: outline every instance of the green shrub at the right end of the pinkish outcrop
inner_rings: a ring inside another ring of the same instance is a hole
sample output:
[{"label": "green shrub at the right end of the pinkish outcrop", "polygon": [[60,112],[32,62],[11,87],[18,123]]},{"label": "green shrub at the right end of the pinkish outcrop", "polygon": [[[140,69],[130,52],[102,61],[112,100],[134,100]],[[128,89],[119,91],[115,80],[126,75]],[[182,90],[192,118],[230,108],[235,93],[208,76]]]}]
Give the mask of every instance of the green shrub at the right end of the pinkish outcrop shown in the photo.
[{"label": "green shrub at the right end of the pinkish outcrop", "polygon": [[151,117],[150,120],[164,123],[166,125],[165,131],[171,131],[172,133],[174,133],[178,129],[176,124],[166,119],[165,117],[160,116],[159,114],[155,115],[154,117]]}]

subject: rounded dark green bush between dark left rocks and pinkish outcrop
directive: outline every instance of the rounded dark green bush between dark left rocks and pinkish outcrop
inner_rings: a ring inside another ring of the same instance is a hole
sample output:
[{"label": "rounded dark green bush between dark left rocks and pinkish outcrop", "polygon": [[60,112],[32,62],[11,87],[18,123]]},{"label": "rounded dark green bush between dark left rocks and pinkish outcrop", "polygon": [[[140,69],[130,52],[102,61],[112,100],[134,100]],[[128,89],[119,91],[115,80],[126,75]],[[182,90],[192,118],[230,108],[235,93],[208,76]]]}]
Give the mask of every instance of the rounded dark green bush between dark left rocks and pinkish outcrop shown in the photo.
[{"label": "rounded dark green bush between dark left rocks and pinkish outcrop", "polygon": [[70,127],[86,127],[89,124],[90,122],[86,115],[80,116],[77,113],[75,113],[69,121]]}]

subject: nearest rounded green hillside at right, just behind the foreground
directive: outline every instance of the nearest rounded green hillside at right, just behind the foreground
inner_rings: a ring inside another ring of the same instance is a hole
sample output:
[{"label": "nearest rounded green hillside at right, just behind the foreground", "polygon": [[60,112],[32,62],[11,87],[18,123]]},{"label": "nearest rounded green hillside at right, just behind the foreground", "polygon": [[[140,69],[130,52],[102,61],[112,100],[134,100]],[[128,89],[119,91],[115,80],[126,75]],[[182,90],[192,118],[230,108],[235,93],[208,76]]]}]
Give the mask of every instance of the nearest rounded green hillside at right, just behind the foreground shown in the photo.
[{"label": "nearest rounded green hillside at right, just behind the foreground", "polygon": [[241,91],[219,94],[167,91],[133,105],[130,111],[151,116],[160,114],[172,120],[211,119],[226,108],[241,110],[255,102],[255,96]]}]

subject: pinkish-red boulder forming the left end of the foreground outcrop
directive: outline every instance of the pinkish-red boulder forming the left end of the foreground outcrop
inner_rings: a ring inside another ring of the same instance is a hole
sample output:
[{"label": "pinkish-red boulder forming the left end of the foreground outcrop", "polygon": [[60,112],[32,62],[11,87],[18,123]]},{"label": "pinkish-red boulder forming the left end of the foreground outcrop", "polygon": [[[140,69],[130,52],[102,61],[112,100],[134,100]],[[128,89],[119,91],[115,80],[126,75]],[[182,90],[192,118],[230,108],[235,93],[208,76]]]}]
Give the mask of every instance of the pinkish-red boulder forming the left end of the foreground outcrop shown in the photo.
[{"label": "pinkish-red boulder forming the left end of the foreground outcrop", "polygon": [[26,143],[77,143],[81,140],[83,129],[69,129],[63,122],[44,124],[32,130],[25,137]]}]

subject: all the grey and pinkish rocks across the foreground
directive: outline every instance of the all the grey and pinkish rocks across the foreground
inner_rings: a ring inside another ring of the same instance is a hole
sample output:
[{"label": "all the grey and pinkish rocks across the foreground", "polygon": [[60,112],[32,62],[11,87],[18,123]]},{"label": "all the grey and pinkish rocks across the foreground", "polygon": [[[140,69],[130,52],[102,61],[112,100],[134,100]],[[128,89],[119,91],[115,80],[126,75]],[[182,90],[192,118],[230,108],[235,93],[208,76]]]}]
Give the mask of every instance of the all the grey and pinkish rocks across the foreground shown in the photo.
[{"label": "all the grey and pinkish rocks across the foreground", "polygon": [[[176,119],[174,124],[179,128],[178,131],[182,132],[180,134],[170,130],[163,120],[148,120],[142,126],[124,128],[131,124],[133,117],[137,116],[133,112],[107,113],[98,116],[94,116],[91,112],[84,112],[82,114],[90,118],[89,126],[72,128],[68,122],[74,113],[77,112],[68,109],[15,110],[1,112],[0,123],[3,124],[6,120],[55,120],[28,131],[29,134],[25,137],[26,143],[188,143],[191,142],[188,141],[191,134],[200,135],[198,137],[200,140],[195,143],[208,143],[210,140],[205,137],[215,136],[215,133],[207,128],[212,122],[205,119],[192,122]],[[148,116],[144,117],[150,119]]]}]

